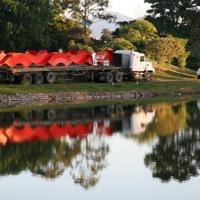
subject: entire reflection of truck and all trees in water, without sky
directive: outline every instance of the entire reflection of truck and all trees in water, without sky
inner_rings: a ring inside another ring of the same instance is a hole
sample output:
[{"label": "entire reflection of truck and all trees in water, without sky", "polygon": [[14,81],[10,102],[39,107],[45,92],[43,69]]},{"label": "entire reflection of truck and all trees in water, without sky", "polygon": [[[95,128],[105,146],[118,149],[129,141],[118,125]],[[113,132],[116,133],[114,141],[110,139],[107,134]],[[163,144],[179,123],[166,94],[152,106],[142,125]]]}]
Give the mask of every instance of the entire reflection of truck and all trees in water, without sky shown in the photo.
[{"label": "entire reflection of truck and all trees in water, without sky", "polygon": [[199,174],[199,117],[196,102],[2,111],[0,175],[55,179],[68,169],[76,184],[94,187],[109,165],[108,137],[120,134],[153,141],[144,159],[153,177],[186,181]]}]

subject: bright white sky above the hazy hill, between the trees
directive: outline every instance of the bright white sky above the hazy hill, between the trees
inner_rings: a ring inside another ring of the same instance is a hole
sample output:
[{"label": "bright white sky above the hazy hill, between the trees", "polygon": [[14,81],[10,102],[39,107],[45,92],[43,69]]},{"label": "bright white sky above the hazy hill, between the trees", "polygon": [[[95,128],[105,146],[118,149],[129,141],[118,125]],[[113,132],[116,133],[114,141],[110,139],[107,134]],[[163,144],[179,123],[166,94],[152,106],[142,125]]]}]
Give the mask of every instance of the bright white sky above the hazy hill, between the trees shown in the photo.
[{"label": "bright white sky above the hazy hill, between the trees", "polygon": [[144,3],[144,0],[110,0],[110,9],[114,12],[119,12],[123,15],[132,18],[143,17],[149,4]]}]

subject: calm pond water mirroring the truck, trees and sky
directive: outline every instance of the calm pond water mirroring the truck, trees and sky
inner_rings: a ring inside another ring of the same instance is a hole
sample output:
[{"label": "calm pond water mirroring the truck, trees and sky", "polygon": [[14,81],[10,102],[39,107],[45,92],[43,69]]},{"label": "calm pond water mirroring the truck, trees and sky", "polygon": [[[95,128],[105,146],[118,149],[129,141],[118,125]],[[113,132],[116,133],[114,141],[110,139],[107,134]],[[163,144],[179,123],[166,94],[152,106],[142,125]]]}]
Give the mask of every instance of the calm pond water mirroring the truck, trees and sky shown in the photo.
[{"label": "calm pond water mirroring the truck, trees and sky", "polygon": [[200,103],[0,112],[2,199],[199,199]]}]

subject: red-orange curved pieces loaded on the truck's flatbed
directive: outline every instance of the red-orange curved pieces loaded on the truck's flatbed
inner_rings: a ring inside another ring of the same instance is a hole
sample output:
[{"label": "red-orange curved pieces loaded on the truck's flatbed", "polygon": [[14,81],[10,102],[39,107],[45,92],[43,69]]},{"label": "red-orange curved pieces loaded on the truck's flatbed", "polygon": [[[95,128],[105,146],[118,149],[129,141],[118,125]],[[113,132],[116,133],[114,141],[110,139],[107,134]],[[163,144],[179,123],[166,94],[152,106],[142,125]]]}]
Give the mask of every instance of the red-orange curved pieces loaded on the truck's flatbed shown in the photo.
[{"label": "red-orange curved pieces loaded on the truck's flatbed", "polygon": [[[56,67],[59,65],[69,66],[71,64],[77,65],[92,65],[92,53],[84,50],[68,51],[67,53],[47,52],[41,50],[39,52],[29,50],[26,53],[9,52],[4,53],[0,51],[0,66],[8,66],[11,68],[18,65],[28,68],[31,65],[45,66],[50,65]],[[112,62],[113,52],[107,50],[105,52],[96,52],[98,63],[103,63],[104,60]]]}]

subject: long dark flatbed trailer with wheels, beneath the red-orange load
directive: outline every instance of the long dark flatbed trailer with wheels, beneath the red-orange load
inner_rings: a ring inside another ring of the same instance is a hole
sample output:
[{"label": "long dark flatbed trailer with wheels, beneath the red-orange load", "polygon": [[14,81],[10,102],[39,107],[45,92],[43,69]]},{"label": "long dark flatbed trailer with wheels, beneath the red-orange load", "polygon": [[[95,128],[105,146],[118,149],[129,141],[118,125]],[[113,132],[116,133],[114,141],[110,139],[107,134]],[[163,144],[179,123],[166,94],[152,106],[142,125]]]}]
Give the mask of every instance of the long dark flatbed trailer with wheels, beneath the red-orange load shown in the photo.
[{"label": "long dark flatbed trailer with wheels, beneath the red-orange load", "polygon": [[[138,72],[140,73],[140,72]],[[142,72],[142,74],[144,74]],[[59,77],[64,77],[69,80],[76,80],[78,78],[88,81],[99,82],[122,82],[124,79],[131,78],[132,73],[127,68],[117,66],[89,66],[89,65],[71,65],[71,66],[30,66],[23,67],[1,67],[0,79],[6,82],[53,84]]]}]

